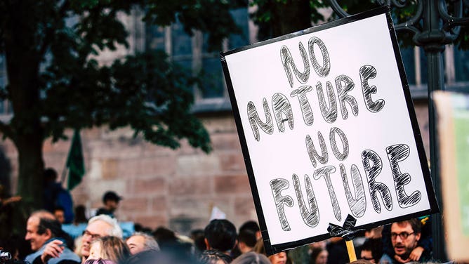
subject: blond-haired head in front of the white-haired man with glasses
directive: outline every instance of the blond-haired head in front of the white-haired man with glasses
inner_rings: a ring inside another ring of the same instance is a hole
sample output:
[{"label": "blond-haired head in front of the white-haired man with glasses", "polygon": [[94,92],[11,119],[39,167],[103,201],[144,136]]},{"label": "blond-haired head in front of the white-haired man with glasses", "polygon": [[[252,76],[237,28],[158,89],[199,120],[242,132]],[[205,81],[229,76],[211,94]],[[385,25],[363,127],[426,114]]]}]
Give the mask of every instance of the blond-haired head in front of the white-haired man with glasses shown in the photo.
[{"label": "blond-haired head in front of the white-haired man with glasses", "polygon": [[107,259],[122,263],[131,255],[128,246],[119,237],[105,236],[91,242],[88,260]]}]

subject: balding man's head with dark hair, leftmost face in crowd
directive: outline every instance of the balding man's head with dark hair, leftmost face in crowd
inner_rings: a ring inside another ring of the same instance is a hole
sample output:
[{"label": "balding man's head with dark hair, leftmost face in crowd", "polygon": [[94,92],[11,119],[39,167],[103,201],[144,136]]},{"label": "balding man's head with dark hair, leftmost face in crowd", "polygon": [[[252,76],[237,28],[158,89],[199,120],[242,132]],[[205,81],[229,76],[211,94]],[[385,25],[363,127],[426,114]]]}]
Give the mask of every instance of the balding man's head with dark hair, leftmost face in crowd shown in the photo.
[{"label": "balding man's head with dark hair, leftmost face in crowd", "polygon": [[35,211],[27,220],[25,240],[29,241],[33,251],[37,251],[48,239],[55,237],[57,226],[60,229],[60,223],[52,213],[45,210]]}]

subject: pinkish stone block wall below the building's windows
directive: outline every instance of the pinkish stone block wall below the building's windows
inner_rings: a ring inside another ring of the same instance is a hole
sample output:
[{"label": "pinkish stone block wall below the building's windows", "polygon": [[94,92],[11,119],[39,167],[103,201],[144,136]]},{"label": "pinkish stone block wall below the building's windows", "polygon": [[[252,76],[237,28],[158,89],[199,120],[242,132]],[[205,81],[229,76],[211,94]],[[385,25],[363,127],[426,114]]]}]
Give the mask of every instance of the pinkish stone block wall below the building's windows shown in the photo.
[{"label": "pinkish stone block wall below the building's windows", "polygon": [[[416,103],[416,113],[428,153],[425,103]],[[103,193],[114,190],[124,197],[117,211],[119,220],[152,228],[164,225],[185,234],[192,228],[205,227],[212,206],[227,213],[237,227],[245,220],[256,220],[232,114],[202,120],[211,135],[210,154],[194,150],[185,141],[178,150],[152,145],[134,139],[130,129],[81,131],[86,176],[72,191],[75,204],[96,209],[102,205]],[[72,131],[68,135],[71,138]],[[16,150],[9,141],[1,145],[11,159],[14,188],[18,171]],[[70,141],[47,141],[46,166],[61,174],[69,147]]]}]

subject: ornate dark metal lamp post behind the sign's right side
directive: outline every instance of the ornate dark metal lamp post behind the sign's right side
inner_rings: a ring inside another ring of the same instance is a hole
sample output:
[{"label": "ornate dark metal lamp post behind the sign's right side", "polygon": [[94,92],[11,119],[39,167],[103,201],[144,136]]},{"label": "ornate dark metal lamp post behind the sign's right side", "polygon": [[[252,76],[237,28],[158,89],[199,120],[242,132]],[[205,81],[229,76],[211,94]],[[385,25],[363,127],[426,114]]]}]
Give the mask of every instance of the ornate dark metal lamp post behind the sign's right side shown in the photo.
[{"label": "ornate dark metal lamp post behind the sign's right side", "polygon": [[[330,0],[333,10],[341,17],[349,14],[341,8],[336,0]],[[404,8],[414,1],[407,0],[376,0],[381,5]],[[444,46],[451,44],[457,37],[461,25],[469,25],[469,18],[463,18],[463,6],[469,6],[469,0],[453,0],[453,15],[447,10],[445,0],[416,0],[416,13],[406,22],[395,25],[396,31],[412,32],[414,43],[422,46],[428,58],[428,118],[430,131],[430,173],[432,176],[437,202],[442,210],[440,186],[440,160],[437,148],[437,126],[435,110],[430,96],[432,91],[444,90]],[[440,216],[432,218],[433,258],[446,260],[444,229]]]}]

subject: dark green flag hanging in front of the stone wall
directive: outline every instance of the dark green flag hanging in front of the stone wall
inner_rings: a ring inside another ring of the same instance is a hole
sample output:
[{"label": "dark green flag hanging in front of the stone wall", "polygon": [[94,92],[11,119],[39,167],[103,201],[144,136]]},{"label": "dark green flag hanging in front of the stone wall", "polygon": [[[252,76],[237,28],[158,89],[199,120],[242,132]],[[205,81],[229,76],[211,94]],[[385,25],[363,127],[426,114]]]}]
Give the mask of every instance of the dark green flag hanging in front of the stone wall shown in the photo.
[{"label": "dark green flag hanging in front of the stone wall", "polygon": [[81,178],[85,174],[85,162],[81,150],[80,131],[78,129],[75,129],[73,133],[72,145],[70,145],[70,152],[68,152],[65,166],[68,168],[68,190],[72,190],[75,186],[79,185]]}]

